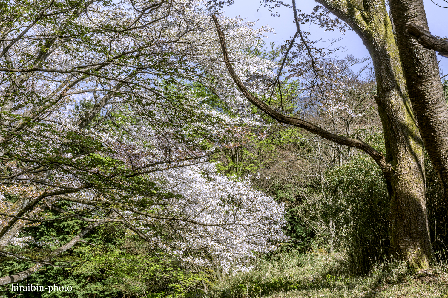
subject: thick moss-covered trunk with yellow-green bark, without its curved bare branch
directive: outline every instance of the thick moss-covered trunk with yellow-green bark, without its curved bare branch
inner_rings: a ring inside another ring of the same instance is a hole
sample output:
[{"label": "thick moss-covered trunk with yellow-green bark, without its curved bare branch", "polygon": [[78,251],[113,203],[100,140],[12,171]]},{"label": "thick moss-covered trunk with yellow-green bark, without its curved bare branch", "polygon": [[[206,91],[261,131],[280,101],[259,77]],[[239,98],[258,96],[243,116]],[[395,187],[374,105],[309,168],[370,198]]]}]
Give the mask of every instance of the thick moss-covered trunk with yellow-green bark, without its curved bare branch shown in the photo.
[{"label": "thick moss-covered trunk with yellow-green bark, without its curved bare branch", "polygon": [[426,268],[432,256],[425,198],[423,142],[406,88],[400,55],[384,0],[317,0],[345,21],[370,52],[383,123],[384,170],[391,197],[390,254]]}]

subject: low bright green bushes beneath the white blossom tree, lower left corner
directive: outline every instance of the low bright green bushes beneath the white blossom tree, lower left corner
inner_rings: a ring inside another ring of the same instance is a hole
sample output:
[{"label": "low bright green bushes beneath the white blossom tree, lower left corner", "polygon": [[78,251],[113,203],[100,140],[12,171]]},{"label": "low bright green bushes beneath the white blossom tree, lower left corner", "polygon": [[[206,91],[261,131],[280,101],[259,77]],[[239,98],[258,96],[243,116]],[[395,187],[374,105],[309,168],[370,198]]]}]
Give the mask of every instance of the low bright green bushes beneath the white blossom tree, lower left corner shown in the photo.
[{"label": "low bright green bushes beneath the white blossom tree, lower left corner", "polygon": [[[67,208],[68,206],[59,206]],[[53,213],[54,218],[59,214]],[[48,217],[50,218],[50,217]],[[39,247],[30,244],[26,257],[38,259],[45,250],[54,250],[59,243],[71,239],[85,223],[70,221],[47,221],[38,226],[24,229],[20,236],[33,236],[36,240],[53,242],[55,246]],[[55,235],[62,235],[55,237]],[[106,223],[97,227],[83,240],[92,243],[78,243],[65,252],[54,266],[44,266],[39,273],[14,285],[66,285],[68,291],[21,291],[22,298],[180,298],[197,295],[202,282],[210,284],[213,276],[207,271],[186,268],[179,260],[155,251],[134,234],[129,234],[121,225]],[[23,250],[22,250],[23,252]],[[15,274],[31,265],[17,262],[13,257],[2,256],[0,273],[2,276]],[[202,293],[202,292],[201,292]],[[0,297],[12,296],[10,286],[0,290]]]}]

